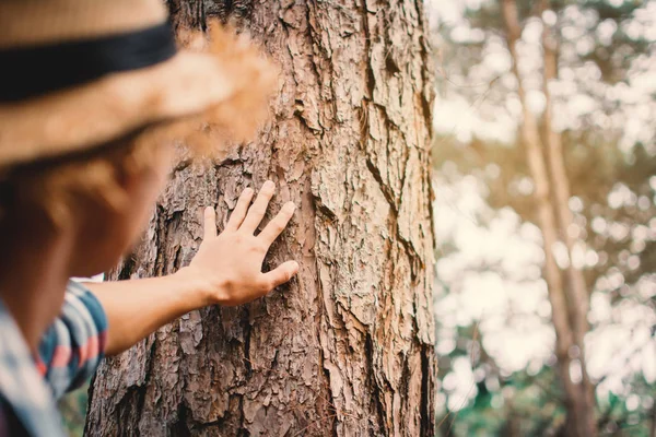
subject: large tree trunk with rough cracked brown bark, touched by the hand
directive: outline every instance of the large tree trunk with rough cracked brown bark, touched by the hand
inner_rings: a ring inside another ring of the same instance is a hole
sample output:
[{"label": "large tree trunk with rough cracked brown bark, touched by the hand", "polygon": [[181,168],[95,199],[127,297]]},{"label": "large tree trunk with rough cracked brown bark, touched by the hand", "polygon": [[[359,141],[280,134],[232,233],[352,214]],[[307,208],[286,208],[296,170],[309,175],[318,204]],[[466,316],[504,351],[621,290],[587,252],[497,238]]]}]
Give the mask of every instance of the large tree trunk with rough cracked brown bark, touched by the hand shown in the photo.
[{"label": "large tree trunk with rough cracked brown bark, touched by the hand", "polygon": [[177,26],[236,16],[282,69],[258,140],[181,165],[120,279],[168,274],[246,186],[300,206],[269,262],[298,277],[206,308],[108,359],[89,435],[432,436],[432,81],[422,1],[172,1]]}]

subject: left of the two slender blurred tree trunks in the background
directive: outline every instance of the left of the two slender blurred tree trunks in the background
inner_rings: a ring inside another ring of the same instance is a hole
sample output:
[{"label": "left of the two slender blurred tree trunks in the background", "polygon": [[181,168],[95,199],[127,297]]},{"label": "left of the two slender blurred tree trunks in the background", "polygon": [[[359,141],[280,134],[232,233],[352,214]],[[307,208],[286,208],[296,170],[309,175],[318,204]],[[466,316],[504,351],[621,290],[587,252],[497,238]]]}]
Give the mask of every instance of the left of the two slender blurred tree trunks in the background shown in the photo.
[{"label": "left of the two slender blurred tree trunks in the background", "polygon": [[[544,145],[540,139],[538,120],[526,103],[526,92],[517,64],[519,59],[517,55],[517,42],[522,36],[522,26],[519,24],[516,0],[501,0],[501,7],[505,24],[506,44],[513,60],[512,71],[517,80],[517,94],[523,108],[520,139],[525,146],[527,164],[535,184],[534,199],[537,206],[537,222],[543,238],[544,280],[549,292],[551,318],[555,330],[555,353],[559,364],[559,375],[565,391],[565,403],[567,405],[567,433],[572,436],[591,437],[597,435],[594,409],[590,409],[585,393],[581,389],[581,385],[575,383],[570,374],[573,363],[571,353],[574,351],[573,346],[577,346],[577,338],[569,320],[571,311],[567,305],[565,286],[553,256],[553,247],[558,241],[559,226],[552,204]],[[581,346],[578,351],[582,351]]]}]

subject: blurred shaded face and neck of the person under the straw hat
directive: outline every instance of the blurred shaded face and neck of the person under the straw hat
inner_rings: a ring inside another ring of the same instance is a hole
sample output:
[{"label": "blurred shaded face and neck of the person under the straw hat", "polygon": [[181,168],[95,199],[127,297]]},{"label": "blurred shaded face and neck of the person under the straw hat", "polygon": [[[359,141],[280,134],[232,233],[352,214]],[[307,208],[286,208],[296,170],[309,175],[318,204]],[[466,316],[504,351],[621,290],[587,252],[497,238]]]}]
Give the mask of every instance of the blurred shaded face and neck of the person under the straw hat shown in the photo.
[{"label": "blurred shaded face and neck of the person under the straw hat", "polygon": [[[128,157],[133,156],[130,151],[137,150],[127,149],[126,144],[122,151],[118,146],[114,151],[116,155],[97,156],[86,166],[80,163],[80,168],[59,167],[54,172],[61,173],[50,175],[40,169],[25,176],[35,184],[23,184],[23,188],[27,187],[25,192],[31,193],[32,188],[43,190],[43,194],[51,196],[55,203],[63,206],[62,215],[52,215],[39,196],[23,199],[23,191],[16,191],[13,185],[7,188],[10,200],[0,222],[0,246],[7,248],[0,257],[0,296],[33,349],[59,315],[65,294],[57,281],[89,277],[115,267],[138,239],[166,184],[174,156],[172,145],[162,144],[154,151],[140,149],[145,157],[141,157],[142,165],[134,164],[131,169],[127,168],[131,165],[127,163],[132,163]],[[44,180],[38,180],[40,176]],[[72,179],[59,187],[58,176]],[[94,186],[91,179],[95,177],[101,185]],[[12,184],[19,186],[22,181],[19,177]],[[101,192],[99,187],[107,190]],[[103,199],[108,192],[127,201],[113,205]]]}]

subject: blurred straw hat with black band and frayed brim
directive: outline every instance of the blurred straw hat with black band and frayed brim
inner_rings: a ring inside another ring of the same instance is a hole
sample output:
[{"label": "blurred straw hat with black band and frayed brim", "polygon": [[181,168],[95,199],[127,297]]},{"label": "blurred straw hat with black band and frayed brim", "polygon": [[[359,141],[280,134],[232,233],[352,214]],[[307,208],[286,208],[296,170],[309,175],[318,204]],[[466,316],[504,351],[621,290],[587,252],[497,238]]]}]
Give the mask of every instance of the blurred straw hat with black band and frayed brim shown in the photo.
[{"label": "blurred straw hat with black band and frayed brim", "polygon": [[163,0],[0,1],[0,167],[164,120],[251,117],[276,73],[216,31],[211,46],[178,50]]}]

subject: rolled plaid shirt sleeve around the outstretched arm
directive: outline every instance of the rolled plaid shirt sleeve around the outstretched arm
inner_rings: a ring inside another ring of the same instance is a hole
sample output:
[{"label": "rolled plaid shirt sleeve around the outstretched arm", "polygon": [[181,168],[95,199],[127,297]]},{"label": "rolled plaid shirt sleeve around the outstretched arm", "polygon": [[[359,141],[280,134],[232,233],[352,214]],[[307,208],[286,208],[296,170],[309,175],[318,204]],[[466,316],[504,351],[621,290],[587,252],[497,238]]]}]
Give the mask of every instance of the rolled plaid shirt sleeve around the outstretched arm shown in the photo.
[{"label": "rolled plaid shirt sleeve around the outstretched arm", "polygon": [[70,282],[61,314],[44,335],[36,357],[39,373],[59,399],[91,377],[104,357],[107,317],[98,299]]}]

